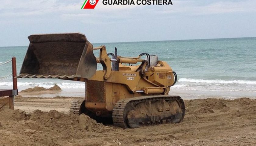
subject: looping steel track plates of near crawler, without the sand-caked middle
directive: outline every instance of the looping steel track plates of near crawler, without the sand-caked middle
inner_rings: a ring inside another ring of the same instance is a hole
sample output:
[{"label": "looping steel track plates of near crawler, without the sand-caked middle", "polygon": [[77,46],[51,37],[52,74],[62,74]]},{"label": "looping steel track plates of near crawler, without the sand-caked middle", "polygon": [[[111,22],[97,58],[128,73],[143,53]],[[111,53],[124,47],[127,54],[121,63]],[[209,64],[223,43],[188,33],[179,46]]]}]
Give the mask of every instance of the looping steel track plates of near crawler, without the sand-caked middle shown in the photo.
[{"label": "looping steel track plates of near crawler, without the sand-caked middle", "polygon": [[[127,111],[126,108],[130,107],[132,104],[135,106],[138,103],[147,102],[147,101],[158,101],[158,100],[176,100],[182,110],[182,113],[178,114],[159,114],[155,116],[147,116],[145,118],[132,118],[127,120]],[[122,128],[137,128],[144,125],[155,125],[162,124],[163,120],[170,121],[170,123],[179,123],[183,120],[185,116],[185,104],[183,99],[180,96],[140,96],[131,99],[121,99],[119,100],[113,109],[112,119],[115,126]],[[145,124],[140,124],[145,123]]]}]

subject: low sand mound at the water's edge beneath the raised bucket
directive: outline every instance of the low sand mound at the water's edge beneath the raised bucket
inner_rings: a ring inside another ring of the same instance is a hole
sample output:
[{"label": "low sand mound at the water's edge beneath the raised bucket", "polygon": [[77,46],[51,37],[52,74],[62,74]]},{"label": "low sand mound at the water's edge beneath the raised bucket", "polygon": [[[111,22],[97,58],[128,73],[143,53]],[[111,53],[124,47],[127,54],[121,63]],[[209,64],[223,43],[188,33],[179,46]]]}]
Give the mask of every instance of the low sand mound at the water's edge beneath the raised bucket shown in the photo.
[{"label": "low sand mound at the water's edge beneath the raised bucket", "polygon": [[46,89],[44,87],[34,87],[22,90],[20,93],[37,93],[37,94],[44,94],[44,93],[51,93],[51,92],[60,92],[61,88],[58,85],[54,85],[53,87]]}]

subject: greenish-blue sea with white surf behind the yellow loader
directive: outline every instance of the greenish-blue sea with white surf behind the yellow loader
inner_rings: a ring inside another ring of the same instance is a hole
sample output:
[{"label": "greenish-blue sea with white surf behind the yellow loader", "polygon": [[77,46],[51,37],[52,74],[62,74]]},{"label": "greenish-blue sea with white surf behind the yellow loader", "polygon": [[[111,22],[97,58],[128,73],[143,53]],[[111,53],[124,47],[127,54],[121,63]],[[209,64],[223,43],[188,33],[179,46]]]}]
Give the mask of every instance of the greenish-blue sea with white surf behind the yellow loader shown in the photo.
[{"label": "greenish-blue sea with white surf behind the yellow loader", "polygon": [[[170,95],[184,99],[256,99],[256,37],[93,43],[94,47],[101,45],[105,45],[109,53],[116,47],[120,56],[136,57],[143,52],[158,55],[159,60],[166,61],[178,76]],[[19,73],[27,48],[0,47],[0,64],[15,56]],[[94,54],[98,56],[97,51]],[[12,88],[12,77],[3,78],[11,72],[11,63],[0,65],[0,89]],[[55,84],[62,92],[39,96],[85,96],[84,82],[18,78],[19,91],[36,86],[50,88]]]}]

